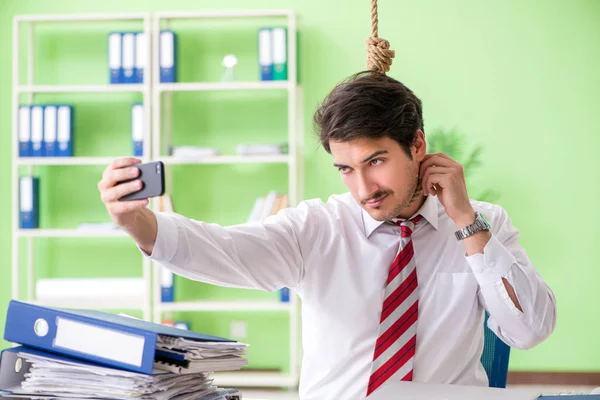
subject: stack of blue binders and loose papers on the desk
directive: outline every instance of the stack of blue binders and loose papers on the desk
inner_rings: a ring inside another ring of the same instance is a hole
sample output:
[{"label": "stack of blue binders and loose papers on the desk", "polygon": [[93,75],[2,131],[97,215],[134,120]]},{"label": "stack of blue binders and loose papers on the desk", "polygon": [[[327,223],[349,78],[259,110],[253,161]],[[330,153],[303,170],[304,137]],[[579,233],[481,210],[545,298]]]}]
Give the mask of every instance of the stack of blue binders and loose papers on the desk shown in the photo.
[{"label": "stack of blue binders and loose papers on the desk", "polygon": [[127,316],[12,300],[0,398],[240,400],[214,371],[247,365],[247,345]]}]

